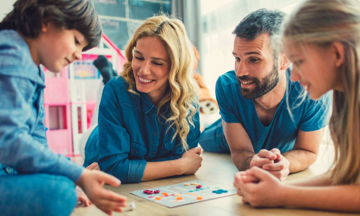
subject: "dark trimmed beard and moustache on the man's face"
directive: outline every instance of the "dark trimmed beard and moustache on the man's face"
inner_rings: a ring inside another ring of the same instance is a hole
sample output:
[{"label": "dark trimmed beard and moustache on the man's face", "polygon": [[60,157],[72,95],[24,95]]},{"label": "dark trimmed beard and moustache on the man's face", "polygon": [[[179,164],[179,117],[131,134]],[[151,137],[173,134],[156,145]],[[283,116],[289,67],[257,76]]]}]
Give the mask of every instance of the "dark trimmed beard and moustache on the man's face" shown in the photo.
[{"label": "dark trimmed beard and moustache on the man's face", "polygon": [[[249,100],[260,98],[261,96],[265,95],[266,93],[268,93],[269,91],[274,89],[274,87],[276,85],[278,85],[279,72],[278,72],[277,60],[274,62],[275,63],[274,63],[274,67],[273,67],[272,71],[269,73],[269,75],[267,75],[261,81],[256,77],[250,78],[247,75],[240,76],[240,77],[236,76],[236,78],[239,82],[239,85],[240,85],[240,93],[244,98],[249,99]],[[252,90],[247,89],[247,88],[242,88],[240,80],[253,82],[255,84],[255,88],[253,88]]]}]

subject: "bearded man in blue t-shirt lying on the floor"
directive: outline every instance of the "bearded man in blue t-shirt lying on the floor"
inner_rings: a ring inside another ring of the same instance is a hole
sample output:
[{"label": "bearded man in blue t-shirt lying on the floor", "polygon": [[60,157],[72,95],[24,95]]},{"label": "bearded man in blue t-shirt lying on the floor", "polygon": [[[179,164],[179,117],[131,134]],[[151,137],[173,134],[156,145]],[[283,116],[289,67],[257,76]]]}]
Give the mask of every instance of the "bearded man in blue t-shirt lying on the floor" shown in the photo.
[{"label": "bearded man in blue t-shirt lying on the floor", "polygon": [[315,162],[332,100],[311,100],[291,81],[291,62],[271,40],[284,16],[259,9],[235,27],[235,70],[216,82],[221,119],[199,141],[205,151],[230,152],[240,171],[258,166],[280,180]]}]

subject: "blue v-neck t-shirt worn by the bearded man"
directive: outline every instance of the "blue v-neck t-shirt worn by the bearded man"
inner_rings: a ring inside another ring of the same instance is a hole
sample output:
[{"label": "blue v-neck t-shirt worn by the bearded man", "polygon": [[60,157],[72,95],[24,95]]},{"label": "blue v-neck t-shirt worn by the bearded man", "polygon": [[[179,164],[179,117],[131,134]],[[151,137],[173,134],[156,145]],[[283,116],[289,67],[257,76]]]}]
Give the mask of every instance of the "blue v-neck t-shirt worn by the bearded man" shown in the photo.
[{"label": "blue v-neck t-shirt worn by the bearded man", "polygon": [[[328,111],[332,102],[332,92],[319,100],[311,100],[306,95],[301,103],[303,88],[298,82],[290,80],[286,71],[287,90],[269,126],[260,122],[254,100],[244,98],[235,71],[221,75],[216,82],[216,99],[219,103],[221,118],[228,123],[241,123],[246,130],[255,153],[261,149],[278,148],[280,152],[293,149],[298,130],[319,130],[329,122]],[[287,107],[287,95],[289,109]]]}]

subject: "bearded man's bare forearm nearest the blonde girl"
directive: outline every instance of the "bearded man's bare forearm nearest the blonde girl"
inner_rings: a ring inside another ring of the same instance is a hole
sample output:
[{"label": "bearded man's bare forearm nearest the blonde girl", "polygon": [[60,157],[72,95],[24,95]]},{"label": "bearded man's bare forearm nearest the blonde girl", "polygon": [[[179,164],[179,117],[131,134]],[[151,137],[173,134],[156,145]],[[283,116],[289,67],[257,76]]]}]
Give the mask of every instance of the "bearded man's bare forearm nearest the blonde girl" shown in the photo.
[{"label": "bearded man's bare forearm nearest the blonde girl", "polygon": [[300,172],[312,165],[318,157],[315,153],[304,149],[293,149],[282,154],[289,162],[289,171]]}]

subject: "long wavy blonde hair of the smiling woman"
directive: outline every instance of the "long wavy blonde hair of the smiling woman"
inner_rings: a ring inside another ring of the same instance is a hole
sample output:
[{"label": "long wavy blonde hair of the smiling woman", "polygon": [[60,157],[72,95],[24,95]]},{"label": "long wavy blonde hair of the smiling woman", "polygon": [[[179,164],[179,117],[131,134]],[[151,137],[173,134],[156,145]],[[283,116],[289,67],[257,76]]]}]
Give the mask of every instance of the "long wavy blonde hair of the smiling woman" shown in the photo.
[{"label": "long wavy blonde hair of the smiling woman", "polygon": [[[193,46],[186,34],[184,24],[168,15],[155,15],[147,19],[135,31],[134,36],[126,46],[125,54],[127,62],[123,66],[121,76],[129,84],[128,91],[135,93],[135,78],[131,68],[131,61],[136,43],[141,37],[157,37],[167,48],[171,59],[171,67],[168,75],[169,87],[165,96],[158,104],[158,115],[161,115],[163,106],[170,101],[170,117],[165,118],[170,122],[170,127],[175,126],[175,134],[179,135],[184,150],[188,149],[186,136],[189,133],[190,125],[194,127],[194,114],[198,111],[197,93],[193,80],[193,66],[195,55]],[[169,128],[170,128],[169,127]]]}]

